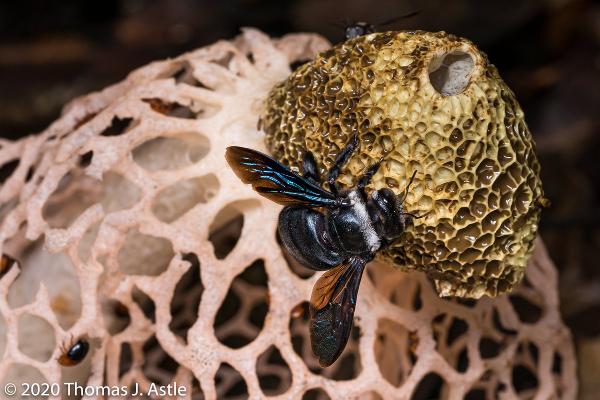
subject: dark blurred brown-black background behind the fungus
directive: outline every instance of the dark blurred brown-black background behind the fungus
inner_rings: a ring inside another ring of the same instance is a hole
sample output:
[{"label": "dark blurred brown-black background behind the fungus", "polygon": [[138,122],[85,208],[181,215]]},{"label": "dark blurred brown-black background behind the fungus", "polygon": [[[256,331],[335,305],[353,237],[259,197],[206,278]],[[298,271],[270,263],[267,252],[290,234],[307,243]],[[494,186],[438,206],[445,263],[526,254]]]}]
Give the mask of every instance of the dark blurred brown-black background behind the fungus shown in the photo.
[{"label": "dark blurred brown-black background behind the fungus", "polygon": [[[581,398],[600,366],[600,5],[578,0],[25,0],[0,3],[0,137],[43,131],[65,102],[131,69],[233,38],[317,32],[341,19],[386,30],[446,31],[488,54],[517,95],[538,144],[552,207],[541,235],[560,271],[563,317],[580,354]],[[595,349],[595,350],[594,350]],[[600,390],[600,387],[596,387]],[[589,392],[594,399],[598,392]],[[592,399],[592,397],[590,397]]]}]

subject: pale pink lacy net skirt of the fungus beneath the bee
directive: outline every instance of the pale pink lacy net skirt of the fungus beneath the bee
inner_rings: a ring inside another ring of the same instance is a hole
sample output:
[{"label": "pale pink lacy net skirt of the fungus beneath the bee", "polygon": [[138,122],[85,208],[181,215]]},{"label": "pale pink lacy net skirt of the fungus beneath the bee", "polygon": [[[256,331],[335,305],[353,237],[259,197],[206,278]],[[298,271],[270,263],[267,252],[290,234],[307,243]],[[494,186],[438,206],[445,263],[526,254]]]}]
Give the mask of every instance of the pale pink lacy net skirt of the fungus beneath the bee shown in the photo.
[{"label": "pale pink lacy net skirt of the fungus beneath the bee", "polygon": [[[523,283],[494,299],[442,299],[424,274],[370,263],[346,350],[317,366],[302,311],[319,274],[282,252],[277,205],[223,154],[265,151],[263,99],[328,46],[248,29],[0,142],[0,244],[19,260],[0,278],[2,384],[176,382],[194,399],[575,398],[541,242]],[[79,337],[88,356],[59,365]]]}]

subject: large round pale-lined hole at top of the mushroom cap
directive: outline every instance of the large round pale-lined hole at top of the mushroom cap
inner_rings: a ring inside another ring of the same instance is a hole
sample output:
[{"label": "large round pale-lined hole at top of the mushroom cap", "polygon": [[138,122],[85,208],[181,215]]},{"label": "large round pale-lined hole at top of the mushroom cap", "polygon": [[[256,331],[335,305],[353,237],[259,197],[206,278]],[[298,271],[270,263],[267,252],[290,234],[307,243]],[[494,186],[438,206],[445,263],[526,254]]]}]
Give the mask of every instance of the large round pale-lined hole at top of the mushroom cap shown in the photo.
[{"label": "large round pale-lined hole at top of the mushroom cap", "polygon": [[454,96],[467,89],[473,74],[475,62],[469,53],[451,51],[431,60],[429,80],[436,92],[444,96]]}]

